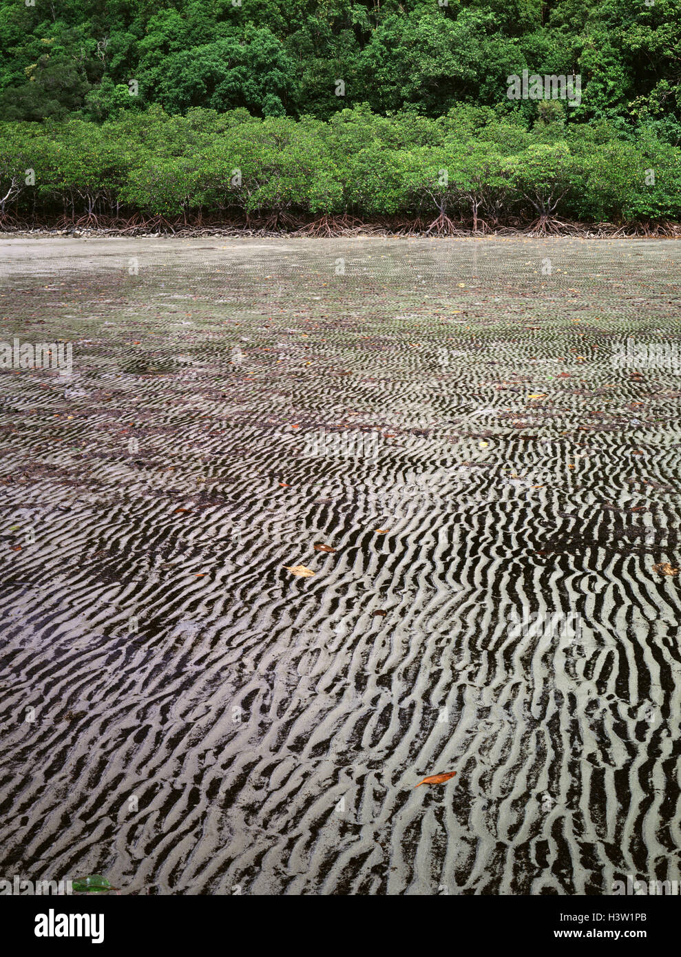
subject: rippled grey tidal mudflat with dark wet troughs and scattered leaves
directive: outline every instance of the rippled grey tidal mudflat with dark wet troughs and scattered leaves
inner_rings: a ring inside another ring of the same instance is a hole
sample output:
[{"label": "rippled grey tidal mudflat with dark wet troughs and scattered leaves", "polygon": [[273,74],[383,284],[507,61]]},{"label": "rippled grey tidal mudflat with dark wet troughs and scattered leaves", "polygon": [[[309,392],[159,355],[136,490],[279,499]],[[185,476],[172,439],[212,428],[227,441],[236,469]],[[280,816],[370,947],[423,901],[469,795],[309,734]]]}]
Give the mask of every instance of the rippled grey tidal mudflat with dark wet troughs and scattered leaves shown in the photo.
[{"label": "rippled grey tidal mudflat with dark wet troughs and scattered leaves", "polygon": [[0,256],[4,875],[681,878],[681,242]]}]

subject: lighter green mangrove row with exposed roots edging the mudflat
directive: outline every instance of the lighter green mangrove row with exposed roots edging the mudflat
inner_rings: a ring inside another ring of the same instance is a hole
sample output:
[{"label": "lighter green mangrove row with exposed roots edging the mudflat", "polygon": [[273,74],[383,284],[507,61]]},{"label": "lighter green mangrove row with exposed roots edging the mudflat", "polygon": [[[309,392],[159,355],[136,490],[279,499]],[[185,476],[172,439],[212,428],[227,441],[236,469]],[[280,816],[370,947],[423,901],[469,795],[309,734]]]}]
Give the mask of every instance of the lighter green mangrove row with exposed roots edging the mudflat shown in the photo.
[{"label": "lighter green mangrove row with exposed roots edging the mudflat", "polygon": [[623,138],[616,122],[578,126],[555,108],[532,128],[474,105],[431,119],[361,104],[322,122],[244,107],[168,115],[154,104],[102,123],[0,123],[0,223],[135,212],[454,217],[475,230],[557,218],[681,220],[681,149],[653,124]]}]

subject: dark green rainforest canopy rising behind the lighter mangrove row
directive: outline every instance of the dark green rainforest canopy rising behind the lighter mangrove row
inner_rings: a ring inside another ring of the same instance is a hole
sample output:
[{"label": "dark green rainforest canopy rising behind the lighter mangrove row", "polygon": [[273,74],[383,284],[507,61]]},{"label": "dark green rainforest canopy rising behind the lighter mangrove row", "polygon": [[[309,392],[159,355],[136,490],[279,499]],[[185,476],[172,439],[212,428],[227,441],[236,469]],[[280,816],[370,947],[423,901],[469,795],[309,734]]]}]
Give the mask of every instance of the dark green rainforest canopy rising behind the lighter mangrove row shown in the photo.
[{"label": "dark green rainforest canopy rising behind the lighter mangrove row", "polygon": [[[509,100],[524,69],[579,74],[581,102],[559,118]],[[651,126],[678,145],[681,0],[0,0],[0,120],[104,122],[159,104],[329,121],[361,103],[432,118],[470,104],[623,136]]]}]

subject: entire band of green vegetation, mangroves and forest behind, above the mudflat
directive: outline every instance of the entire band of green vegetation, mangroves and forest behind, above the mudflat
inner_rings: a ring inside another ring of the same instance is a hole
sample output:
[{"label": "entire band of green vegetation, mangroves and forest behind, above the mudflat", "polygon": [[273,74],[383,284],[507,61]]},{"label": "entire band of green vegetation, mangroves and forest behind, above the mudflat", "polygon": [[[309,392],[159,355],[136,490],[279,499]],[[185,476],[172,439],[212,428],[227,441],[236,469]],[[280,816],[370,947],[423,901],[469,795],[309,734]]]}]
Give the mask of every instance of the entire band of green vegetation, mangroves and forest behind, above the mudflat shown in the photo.
[{"label": "entire band of green vegetation, mangroves and forest behind, above the mudflat", "polygon": [[681,0],[0,0],[0,228],[382,220],[669,232]]}]

